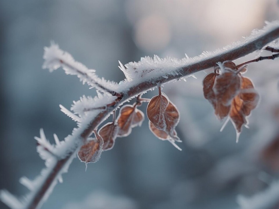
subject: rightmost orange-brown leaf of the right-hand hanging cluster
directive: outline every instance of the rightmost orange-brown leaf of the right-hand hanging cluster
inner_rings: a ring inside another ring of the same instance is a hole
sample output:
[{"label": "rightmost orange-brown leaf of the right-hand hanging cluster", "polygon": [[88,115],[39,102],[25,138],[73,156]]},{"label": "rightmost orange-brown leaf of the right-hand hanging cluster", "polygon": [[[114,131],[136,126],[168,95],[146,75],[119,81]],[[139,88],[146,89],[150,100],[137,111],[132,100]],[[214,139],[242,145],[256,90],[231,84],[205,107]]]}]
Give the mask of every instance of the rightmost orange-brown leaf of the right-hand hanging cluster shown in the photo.
[{"label": "rightmost orange-brown leaf of the right-hand hanging cluster", "polygon": [[255,91],[252,81],[249,78],[242,77],[241,90],[239,98],[243,100],[243,113],[248,116],[251,110],[255,109],[259,102],[259,94]]}]

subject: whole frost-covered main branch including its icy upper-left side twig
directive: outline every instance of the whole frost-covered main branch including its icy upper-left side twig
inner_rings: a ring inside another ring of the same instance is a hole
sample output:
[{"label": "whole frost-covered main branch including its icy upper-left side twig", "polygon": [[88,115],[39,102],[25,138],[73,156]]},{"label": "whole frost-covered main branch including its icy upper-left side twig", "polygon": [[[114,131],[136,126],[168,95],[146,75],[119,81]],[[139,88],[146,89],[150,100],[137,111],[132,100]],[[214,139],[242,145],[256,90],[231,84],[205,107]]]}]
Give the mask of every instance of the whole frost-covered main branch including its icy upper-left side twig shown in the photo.
[{"label": "whole frost-covered main branch including its icy upper-left side twig", "polygon": [[[251,37],[245,39],[244,42],[234,43],[212,53],[205,52],[199,57],[176,60],[170,58],[161,59],[155,55],[154,59],[145,57],[138,63],[130,62],[125,66],[121,64],[120,69],[127,79],[118,85],[99,78],[95,79],[97,78],[95,74],[89,75],[88,69],[84,65],[75,62],[71,55],[64,53],[57,45],[46,48],[48,55],[44,56],[46,59],[44,68],[49,68],[52,71],[62,66],[67,74],[78,75],[84,82],[115,96],[110,95],[108,97],[108,95],[104,94],[100,101],[97,101],[97,98],[91,98],[97,103],[103,102],[103,105],[98,104],[98,107],[105,106],[106,109],[95,109],[80,116],[81,120],[78,122],[78,128],[75,128],[72,135],[67,136],[63,143],[56,145],[52,149],[52,153],[59,158],[54,156],[49,158],[50,160],[46,162],[47,168],[42,171],[42,175],[38,177],[39,180],[36,179],[34,181],[36,185],[32,187],[30,194],[24,200],[19,201],[6,191],[1,191],[1,200],[13,209],[39,208],[51,193],[61,174],[67,171],[72,159],[76,156],[85,140],[98,128],[101,122],[106,120],[124,102],[161,84],[179,80],[198,71],[214,67],[217,62],[235,60],[253,51],[260,50],[278,37],[279,23],[273,22],[264,29],[253,32]],[[56,49],[53,48],[54,46]],[[50,51],[50,49],[52,50]],[[65,60],[61,59],[61,56]],[[115,89],[118,93],[114,94],[112,89]],[[71,116],[74,117],[73,115]],[[74,119],[79,120],[79,118],[75,117]]]}]

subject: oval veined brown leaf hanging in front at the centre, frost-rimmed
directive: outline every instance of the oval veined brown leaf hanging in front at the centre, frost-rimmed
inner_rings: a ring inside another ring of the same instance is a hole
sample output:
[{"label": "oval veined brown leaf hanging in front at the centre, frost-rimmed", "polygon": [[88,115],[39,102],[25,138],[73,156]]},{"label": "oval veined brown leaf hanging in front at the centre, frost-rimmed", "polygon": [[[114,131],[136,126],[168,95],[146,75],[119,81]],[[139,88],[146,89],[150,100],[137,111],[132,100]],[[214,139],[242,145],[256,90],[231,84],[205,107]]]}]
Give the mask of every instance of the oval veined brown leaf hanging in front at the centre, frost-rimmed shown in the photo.
[{"label": "oval veined brown leaf hanging in front at the centre, frost-rimmed", "polygon": [[164,113],[168,105],[169,99],[163,93],[161,95],[152,97],[147,105],[147,118],[156,128],[160,130],[164,130],[166,128]]}]

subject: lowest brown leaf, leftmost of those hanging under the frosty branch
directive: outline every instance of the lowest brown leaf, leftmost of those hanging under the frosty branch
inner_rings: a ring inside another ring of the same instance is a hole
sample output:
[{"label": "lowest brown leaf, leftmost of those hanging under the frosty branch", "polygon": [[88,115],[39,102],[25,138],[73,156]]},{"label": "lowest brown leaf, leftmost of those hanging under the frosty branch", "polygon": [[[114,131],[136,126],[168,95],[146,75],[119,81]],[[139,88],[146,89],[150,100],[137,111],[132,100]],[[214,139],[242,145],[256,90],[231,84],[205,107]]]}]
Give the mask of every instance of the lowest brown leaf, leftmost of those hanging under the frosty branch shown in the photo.
[{"label": "lowest brown leaf, leftmost of those hanging under the frosty branch", "polygon": [[78,151],[78,158],[85,163],[95,163],[101,157],[103,151],[102,146],[102,140],[90,140],[81,146],[81,149]]}]

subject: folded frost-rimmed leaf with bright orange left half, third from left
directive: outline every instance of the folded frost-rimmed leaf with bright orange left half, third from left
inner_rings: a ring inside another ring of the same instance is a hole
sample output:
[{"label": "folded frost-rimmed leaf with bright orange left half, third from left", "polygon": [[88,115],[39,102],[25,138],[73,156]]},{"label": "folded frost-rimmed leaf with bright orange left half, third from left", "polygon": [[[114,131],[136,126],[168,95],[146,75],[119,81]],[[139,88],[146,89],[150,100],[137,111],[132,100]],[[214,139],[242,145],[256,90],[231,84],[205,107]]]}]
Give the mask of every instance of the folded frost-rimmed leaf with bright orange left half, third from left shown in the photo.
[{"label": "folded frost-rimmed leaf with bright orange left half, third from left", "polygon": [[144,114],[138,110],[135,106],[124,105],[120,109],[120,114],[117,118],[117,125],[119,131],[117,136],[124,137],[128,136],[133,127],[140,126],[144,120]]}]

